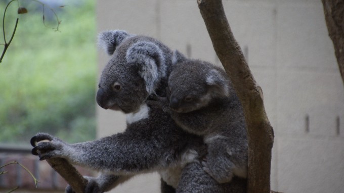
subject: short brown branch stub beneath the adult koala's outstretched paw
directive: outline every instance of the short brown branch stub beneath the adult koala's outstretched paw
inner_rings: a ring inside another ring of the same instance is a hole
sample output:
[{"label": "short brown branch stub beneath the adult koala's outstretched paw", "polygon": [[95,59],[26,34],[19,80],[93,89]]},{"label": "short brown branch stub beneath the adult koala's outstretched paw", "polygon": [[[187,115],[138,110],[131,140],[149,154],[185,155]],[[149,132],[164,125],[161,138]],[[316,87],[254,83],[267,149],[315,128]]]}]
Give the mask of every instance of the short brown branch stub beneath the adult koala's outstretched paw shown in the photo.
[{"label": "short brown branch stub beneath the adult koala's outstretched paw", "polygon": [[72,186],[76,193],[83,193],[87,185],[87,180],[72,166],[67,160],[63,158],[51,158],[47,162],[57,171],[66,181]]}]

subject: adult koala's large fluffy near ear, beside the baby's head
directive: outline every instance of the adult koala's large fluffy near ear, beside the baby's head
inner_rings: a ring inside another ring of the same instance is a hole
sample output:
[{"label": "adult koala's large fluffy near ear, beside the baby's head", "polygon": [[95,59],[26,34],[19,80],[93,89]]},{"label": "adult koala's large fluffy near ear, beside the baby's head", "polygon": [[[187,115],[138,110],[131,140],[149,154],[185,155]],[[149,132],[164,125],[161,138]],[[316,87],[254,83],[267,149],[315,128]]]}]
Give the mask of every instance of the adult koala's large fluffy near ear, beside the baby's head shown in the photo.
[{"label": "adult koala's large fluffy near ear, beside the baby's head", "polygon": [[161,79],[166,76],[166,62],[160,47],[154,42],[140,41],[134,43],[126,51],[126,61],[139,65],[141,77],[145,80],[149,94],[155,89]]}]

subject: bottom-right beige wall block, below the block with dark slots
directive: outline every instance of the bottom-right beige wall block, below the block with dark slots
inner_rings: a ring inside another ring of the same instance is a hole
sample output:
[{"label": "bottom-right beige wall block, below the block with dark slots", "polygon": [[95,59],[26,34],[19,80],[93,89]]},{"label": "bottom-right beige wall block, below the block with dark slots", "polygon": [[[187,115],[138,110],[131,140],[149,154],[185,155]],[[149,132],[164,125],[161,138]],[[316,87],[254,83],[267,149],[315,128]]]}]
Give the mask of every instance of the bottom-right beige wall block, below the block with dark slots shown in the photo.
[{"label": "bottom-right beige wall block, below the block with dark slots", "polygon": [[278,191],[288,193],[343,192],[342,138],[309,137],[278,140]]}]

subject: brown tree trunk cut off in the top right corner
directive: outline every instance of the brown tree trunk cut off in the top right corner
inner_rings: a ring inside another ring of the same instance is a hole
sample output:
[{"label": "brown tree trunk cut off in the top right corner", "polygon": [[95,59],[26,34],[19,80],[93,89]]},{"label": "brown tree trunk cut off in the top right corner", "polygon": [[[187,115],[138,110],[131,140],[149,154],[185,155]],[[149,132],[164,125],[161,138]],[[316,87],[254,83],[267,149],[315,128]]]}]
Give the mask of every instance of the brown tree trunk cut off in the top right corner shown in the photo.
[{"label": "brown tree trunk cut off in the top right corner", "polygon": [[322,0],[329,36],[334,45],[334,54],[344,83],[344,2],[342,0]]}]

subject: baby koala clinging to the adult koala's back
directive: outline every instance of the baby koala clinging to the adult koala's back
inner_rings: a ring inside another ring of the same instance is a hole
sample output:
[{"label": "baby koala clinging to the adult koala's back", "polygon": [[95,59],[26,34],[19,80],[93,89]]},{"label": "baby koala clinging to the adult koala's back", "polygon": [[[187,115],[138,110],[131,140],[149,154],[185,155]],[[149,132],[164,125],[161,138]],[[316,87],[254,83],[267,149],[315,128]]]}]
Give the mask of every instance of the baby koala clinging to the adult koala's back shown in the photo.
[{"label": "baby koala clinging to the adult koala's back", "polygon": [[204,170],[219,183],[231,181],[233,175],[246,178],[246,122],[226,72],[175,51],[167,92],[167,98],[149,104],[170,114],[182,129],[203,136]]}]

